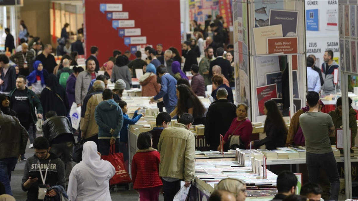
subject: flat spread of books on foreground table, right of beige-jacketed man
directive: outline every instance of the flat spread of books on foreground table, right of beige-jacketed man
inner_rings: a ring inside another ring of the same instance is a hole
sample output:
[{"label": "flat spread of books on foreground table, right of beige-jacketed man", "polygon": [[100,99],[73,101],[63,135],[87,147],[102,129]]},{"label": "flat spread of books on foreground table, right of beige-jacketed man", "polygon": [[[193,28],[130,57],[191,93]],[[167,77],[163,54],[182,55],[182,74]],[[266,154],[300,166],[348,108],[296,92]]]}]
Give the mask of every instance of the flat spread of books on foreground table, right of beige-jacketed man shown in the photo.
[{"label": "flat spread of books on foreground table, right of beige-jacketed man", "polygon": [[224,178],[237,178],[246,183],[247,197],[273,197],[277,194],[277,175],[267,170],[267,178],[253,173],[250,167],[236,161],[196,161],[195,183],[212,193]]}]

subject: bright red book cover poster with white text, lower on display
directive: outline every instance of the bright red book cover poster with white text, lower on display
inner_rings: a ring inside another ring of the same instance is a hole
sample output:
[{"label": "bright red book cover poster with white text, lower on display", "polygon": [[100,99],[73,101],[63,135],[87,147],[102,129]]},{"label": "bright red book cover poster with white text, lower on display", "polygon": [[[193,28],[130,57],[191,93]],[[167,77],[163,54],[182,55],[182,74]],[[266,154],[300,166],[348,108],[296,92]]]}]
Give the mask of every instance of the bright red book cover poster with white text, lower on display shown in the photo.
[{"label": "bright red book cover poster with white text, lower on display", "polygon": [[277,98],[277,88],[276,84],[265,85],[262,87],[256,87],[257,94],[257,106],[259,115],[264,115],[263,112],[264,104],[267,100],[271,100],[271,98]]}]

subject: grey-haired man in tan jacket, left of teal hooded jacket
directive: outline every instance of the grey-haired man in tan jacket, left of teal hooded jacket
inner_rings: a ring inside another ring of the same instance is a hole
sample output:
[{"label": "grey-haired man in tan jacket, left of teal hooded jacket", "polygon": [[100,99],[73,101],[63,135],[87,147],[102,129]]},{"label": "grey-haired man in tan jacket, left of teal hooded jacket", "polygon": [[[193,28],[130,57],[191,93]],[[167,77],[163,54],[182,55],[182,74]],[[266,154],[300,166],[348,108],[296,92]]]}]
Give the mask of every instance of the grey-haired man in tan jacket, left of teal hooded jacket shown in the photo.
[{"label": "grey-haired man in tan jacket, left of teal hooded jacket", "polygon": [[[96,80],[93,83],[93,93],[90,93],[83,100],[81,111],[81,138],[84,142],[93,141],[98,147],[98,125],[95,120],[95,109],[102,102],[102,93],[105,90],[105,83]],[[98,149],[99,150],[99,149]]]}]

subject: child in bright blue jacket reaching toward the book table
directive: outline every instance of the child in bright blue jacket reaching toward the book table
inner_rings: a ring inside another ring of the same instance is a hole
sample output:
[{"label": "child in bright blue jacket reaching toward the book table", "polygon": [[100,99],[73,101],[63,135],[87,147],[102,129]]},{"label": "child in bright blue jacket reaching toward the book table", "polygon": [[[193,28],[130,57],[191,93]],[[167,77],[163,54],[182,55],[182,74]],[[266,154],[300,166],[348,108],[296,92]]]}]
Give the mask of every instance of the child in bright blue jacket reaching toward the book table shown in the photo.
[{"label": "child in bright blue jacket reaching toward the book table", "polygon": [[138,108],[138,110],[136,110],[134,112],[134,115],[131,118],[128,117],[128,115],[126,114],[128,112],[127,109],[127,103],[124,100],[117,100],[116,103],[118,103],[118,105],[121,107],[122,112],[123,112],[123,127],[121,129],[120,132],[120,152],[123,153],[123,158],[124,158],[124,163],[126,166],[126,170],[128,171],[128,147],[127,147],[127,143],[128,143],[128,125],[132,125],[137,123],[137,121],[139,121],[139,119],[141,117],[144,117],[144,113],[141,114],[137,114],[138,110],[140,108]]}]

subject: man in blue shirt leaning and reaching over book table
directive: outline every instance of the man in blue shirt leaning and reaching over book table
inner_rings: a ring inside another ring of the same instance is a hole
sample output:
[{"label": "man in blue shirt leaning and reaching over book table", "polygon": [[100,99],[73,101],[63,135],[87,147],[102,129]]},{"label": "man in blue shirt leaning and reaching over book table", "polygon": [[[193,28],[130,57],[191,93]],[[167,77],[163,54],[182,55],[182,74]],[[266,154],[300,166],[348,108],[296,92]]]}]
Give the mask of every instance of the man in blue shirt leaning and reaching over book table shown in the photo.
[{"label": "man in blue shirt leaning and reaching over book table", "polygon": [[176,97],[176,79],[168,73],[164,65],[160,65],[156,70],[161,78],[161,88],[160,92],[151,98],[149,103],[154,103],[155,100],[163,98],[165,110],[170,114],[174,111],[178,102]]}]

